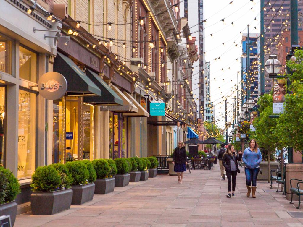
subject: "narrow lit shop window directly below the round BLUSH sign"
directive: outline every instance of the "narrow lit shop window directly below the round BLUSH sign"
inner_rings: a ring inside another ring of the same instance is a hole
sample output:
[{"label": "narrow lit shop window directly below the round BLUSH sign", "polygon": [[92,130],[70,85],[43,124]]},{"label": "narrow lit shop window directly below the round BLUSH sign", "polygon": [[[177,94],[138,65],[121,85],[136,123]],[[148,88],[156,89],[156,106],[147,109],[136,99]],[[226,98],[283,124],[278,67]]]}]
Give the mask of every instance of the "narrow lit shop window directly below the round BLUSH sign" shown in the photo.
[{"label": "narrow lit shop window directly below the round BLUSH sign", "polygon": [[64,163],[64,107],[62,100],[53,101],[52,163]]}]

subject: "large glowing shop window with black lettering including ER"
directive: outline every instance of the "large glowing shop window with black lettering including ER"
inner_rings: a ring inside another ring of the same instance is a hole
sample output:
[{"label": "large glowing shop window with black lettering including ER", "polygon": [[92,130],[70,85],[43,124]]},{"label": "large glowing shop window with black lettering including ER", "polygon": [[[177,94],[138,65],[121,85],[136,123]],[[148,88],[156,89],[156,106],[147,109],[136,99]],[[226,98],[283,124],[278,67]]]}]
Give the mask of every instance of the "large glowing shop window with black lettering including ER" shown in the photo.
[{"label": "large glowing shop window with black lettering including ER", "polygon": [[19,90],[18,104],[18,178],[35,171],[36,94]]}]

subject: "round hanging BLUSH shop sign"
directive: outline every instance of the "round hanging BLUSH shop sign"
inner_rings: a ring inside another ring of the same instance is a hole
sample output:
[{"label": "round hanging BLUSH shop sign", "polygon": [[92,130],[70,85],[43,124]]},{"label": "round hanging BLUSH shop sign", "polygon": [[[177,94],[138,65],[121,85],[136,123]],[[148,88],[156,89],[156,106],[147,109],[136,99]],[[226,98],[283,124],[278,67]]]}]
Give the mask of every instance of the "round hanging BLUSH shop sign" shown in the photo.
[{"label": "round hanging BLUSH shop sign", "polygon": [[38,81],[38,90],[42,97],[49,100],[56,100],[66,93],[67,82],[62,74],[48,72],[40,77]]}]

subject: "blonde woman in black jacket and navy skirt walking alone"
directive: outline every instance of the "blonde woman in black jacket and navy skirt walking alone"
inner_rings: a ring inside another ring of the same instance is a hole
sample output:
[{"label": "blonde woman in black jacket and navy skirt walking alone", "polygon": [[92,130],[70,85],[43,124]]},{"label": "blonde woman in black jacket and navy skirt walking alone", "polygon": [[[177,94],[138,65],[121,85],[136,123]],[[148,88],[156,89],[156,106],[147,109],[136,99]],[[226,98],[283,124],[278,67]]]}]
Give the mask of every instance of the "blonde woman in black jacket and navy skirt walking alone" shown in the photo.
[{"label": "blonde woman in black jacket and navy skirt walking alone", "polygon": [[183,141],[179,141],[178,147],[175,148],[172,163],[175,164],[174,171],[178,175],[178,182],[182,184],[183,172],[186,171],[187,165],[187,156],[185,151],[185,144]]}]

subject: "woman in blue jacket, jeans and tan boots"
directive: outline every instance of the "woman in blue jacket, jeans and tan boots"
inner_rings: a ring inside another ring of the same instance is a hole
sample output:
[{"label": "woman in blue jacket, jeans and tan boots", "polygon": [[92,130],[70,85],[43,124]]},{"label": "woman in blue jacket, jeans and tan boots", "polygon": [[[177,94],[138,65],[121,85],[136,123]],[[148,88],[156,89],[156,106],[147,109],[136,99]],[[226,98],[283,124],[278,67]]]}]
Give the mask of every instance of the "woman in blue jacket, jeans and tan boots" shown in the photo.
[{"label": "woman in blue jacket, jeans and tan boots", "polygon": [[257,176],[260,169],[259,164],[262,161],[261,151],[256,140],[249,141],[249,147],[245,149],[242,160],[245,163],[246,196],[249,197],[251,193],[251,197],[256,198]]}]

